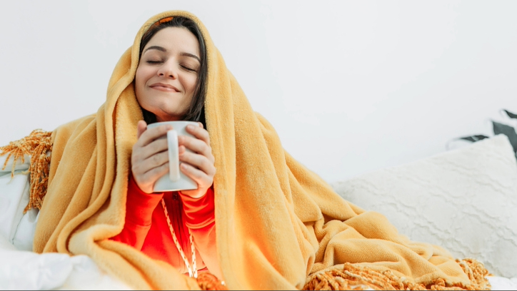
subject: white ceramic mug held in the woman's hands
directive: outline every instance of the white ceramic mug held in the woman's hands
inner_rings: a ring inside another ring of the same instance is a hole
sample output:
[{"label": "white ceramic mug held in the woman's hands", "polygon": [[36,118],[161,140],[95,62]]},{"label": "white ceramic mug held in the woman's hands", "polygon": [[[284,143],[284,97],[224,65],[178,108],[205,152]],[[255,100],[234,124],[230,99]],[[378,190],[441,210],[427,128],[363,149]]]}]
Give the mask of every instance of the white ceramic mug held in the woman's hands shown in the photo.
[{"label": "white ceramic mug held in the woman's hands", "polygon": [[[153,192],[197,189],[198,184],[179,170],[178,136],[194,137],[190,133],[187,133],[186,126],[199,126],[199,123],[194,121],[164,121],[151,123],[147,126],[147,129],[167,124],[174,128],[167,132],[167,136],[162,137],[167,138],[167,145],[169,147],[169,173],[161,176],[161,178],[154,183]],[[187,149],[187,151],[191,152],[189,149]]]}]

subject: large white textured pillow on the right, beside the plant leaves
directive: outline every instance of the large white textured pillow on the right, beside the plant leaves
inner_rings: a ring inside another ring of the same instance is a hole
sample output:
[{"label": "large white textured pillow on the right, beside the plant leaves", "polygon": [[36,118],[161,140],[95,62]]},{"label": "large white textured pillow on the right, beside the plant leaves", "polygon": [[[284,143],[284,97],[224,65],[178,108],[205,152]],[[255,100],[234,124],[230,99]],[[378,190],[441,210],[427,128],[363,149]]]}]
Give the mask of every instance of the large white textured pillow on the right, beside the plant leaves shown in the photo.
[{"label": "large white textured pillow on the right, beside the plant leaves", "polygon": [[506,136],[332,186],[351,203],[386,215],[411,240],[517,277],[517,162]]}]

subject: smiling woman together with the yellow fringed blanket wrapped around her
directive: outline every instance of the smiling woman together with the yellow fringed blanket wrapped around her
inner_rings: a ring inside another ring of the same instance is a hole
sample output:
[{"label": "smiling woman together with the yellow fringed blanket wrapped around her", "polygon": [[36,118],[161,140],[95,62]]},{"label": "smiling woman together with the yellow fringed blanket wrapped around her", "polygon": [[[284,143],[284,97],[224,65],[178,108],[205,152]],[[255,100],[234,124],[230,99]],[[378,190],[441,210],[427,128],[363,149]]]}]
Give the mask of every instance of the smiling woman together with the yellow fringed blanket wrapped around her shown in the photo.
[{"label": "smiling woman together with the yellow fringed blanket wrapped around her", "polygon": [[[171,128],[146,125],[175,120],[199,122],[178,142],[199,186],[154,193]],[[292,158],[186,11],[141,26],[96,114],[0,150],[34,154],[38,138],[34,250],[89,255],[136,289],[489,287],[481,263],[408,240]]]}]

